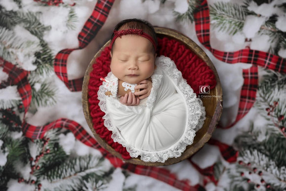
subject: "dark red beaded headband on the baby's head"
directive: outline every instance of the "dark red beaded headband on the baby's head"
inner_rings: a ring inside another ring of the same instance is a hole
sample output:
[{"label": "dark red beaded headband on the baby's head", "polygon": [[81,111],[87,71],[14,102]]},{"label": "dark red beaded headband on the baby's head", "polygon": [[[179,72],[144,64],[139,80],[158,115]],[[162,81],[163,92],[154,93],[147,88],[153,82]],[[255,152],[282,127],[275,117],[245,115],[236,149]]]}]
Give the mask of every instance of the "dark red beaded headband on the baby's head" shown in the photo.
[{"label": "dark red beaded headband on the baby's head", "polygon": [[144,33],[142,29],[125,29],[122,31],[114,31],[113,33],[114,33],[114,36],[110,42],[110,47],[112,47],[112,45],[113,45],[113,43],[117,37],[121,38],[121,36],[123,36],[123,35],[139,35],[141,37],[144,37],[144,38],[147,38],[148,40],[150,40],[150,42],[154,46],[155,52],[157,50],[155,40],[150,35]]}]

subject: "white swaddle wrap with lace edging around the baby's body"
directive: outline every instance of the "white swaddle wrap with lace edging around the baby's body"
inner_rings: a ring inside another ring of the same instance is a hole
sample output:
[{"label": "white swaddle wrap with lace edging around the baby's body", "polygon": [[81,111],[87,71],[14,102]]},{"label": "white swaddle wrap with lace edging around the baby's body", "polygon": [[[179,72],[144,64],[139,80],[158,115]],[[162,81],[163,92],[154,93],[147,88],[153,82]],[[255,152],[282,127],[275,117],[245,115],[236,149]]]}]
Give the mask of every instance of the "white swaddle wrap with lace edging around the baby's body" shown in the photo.
[{"label": "white swaddle wrap with lace edging around the baby's body", "polygon": [[105,126],[111,138],[141,160],[165,162],[179,157],[193,143],[195,132],[205,120],[205,108],[192,88],[182,78],[175,63],[168,57],[156,59],[151,76],[150,95],[138,106],[126,106],[117,95],[118,79],[110,72],[98,91],[99,106],[105,112]]}]

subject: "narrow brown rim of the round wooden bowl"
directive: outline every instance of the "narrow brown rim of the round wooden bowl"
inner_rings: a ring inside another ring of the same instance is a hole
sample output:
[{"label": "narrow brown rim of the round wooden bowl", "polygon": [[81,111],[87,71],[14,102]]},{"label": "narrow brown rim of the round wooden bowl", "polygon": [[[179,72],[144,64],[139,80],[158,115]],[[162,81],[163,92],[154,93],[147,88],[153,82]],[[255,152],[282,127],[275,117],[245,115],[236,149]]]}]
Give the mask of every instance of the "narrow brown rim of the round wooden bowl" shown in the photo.
[{"label": "narrow brown rim of the round wooden bowl", "polygon": [[[138,165],[145,165],[145,166],[164,166],[164,165],[171,165],[171,164],[175,164],[178,163],[188,157],[190,157],[192,154],[196,153],[197,151],[199,151],[205,143],[207,143],[210,138],[212,137],[212,133],[214,132],[214,129],[217,125],[217,122],[220,118],[221,112],[222,112],[222,88],[221,88],[221,83],[219,80],[219,76],[217,74],[217,71],[214,67],[213,62],[210,60],[210,58],[208,57],[208,55],[206,54],[206,52],[204,52],[204,50],[197,45],[193,40],[191,40],[190,38],[186,37],[185,35],[183,35],[182,33],[174,30],[174,29],[169,29],[169,28],[164,28],[164,27],[154,27],[155,32],[157,35],[159,36],[168,36],[170,38],[174,38],[179,40],[182,44],[184,44],[187,48],[189,48],[192,52],[194,52],[198,57],[200,57],[214,72],[214,76],[216,79],[216,86],[215,88],[213,88],[213,90],[215,91],[215,95],[217,95],[218,97],[215,99],[216,102],[216,106],[215,106],[215,111],[214,114],[212,116],[212,119],[210,121],[209,127],[207,132],[203,135],[203,137],[198,140],[198,142],[196,142],[195,144],[190,145],[192,148],[192,151],[189,150],[185,150],[180,157],[178,158],[169,158],[167,159],[164,163],[161,162],[144,162],[143,160],[141,160],[140,158],[131,158],[131,159],[123,159],[121,154],[116,152],[110,145],[108,145],[94,130],[93,128],[93,122],[92,122],[92,118],[90,115],[90,110],[89,110],[89,102],[88,102],[88,83],[89,83],[89,79],[90,79],[90,73],[93,70],[93,64],[96,64],[96,58],[100,56],[101,52],[104,50],[104,48],[106,48],[109,43],[110,40],[108,40],[101,48],[100,50],[98,50],[98,52],[95,54],[95,56],[93,57],[93,59],[91,60],[91,62],[89,63],[84,78],[83,78],[83,84],[82,84],[82,107],[83,107],[83,113],[85,116],[85,119],[88,123],[89,128],[91,129],[94,138],[97,140],[97,142],[104,148],[107,150],[107,152],[115,155],[116,157],[120,158],[121,160],[125,161],[125,162],[129,162],[129,163],[133,163],[133,164],[138,164]],[[195,136],[196,138],[196,136]]]}]

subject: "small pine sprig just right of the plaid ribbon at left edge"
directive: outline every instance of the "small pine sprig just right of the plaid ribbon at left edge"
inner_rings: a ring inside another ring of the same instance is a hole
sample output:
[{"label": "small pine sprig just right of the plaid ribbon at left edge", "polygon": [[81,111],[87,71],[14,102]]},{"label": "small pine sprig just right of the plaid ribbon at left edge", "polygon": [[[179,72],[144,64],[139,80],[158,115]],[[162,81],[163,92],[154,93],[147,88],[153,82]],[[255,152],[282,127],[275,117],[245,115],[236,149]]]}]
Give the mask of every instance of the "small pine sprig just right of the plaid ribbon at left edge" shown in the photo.
[{"label": "small pine sprig just right of the plaid ribbon at left edge", "polygon": [[30,82],[32,87],[32,103],[36,106],[52,106],[56,103],[56,89],[51,83],[43,81],[38,90],[35,89],[35,82]]}]

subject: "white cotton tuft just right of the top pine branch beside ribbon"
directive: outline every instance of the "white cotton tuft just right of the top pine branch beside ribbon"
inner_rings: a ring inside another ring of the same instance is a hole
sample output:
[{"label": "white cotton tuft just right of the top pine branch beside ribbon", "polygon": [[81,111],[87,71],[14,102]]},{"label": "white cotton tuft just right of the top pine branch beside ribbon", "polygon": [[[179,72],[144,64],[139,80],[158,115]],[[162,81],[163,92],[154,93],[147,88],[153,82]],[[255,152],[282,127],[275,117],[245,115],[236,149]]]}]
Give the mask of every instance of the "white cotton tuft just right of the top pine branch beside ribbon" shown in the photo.
[{"label": "white cotton tuft just right of the top pine branch beside ribbon", "polygon": [[247,38],[253,38],[265,22],[265,17],[248,15],[243,26],[243,33]]}]

